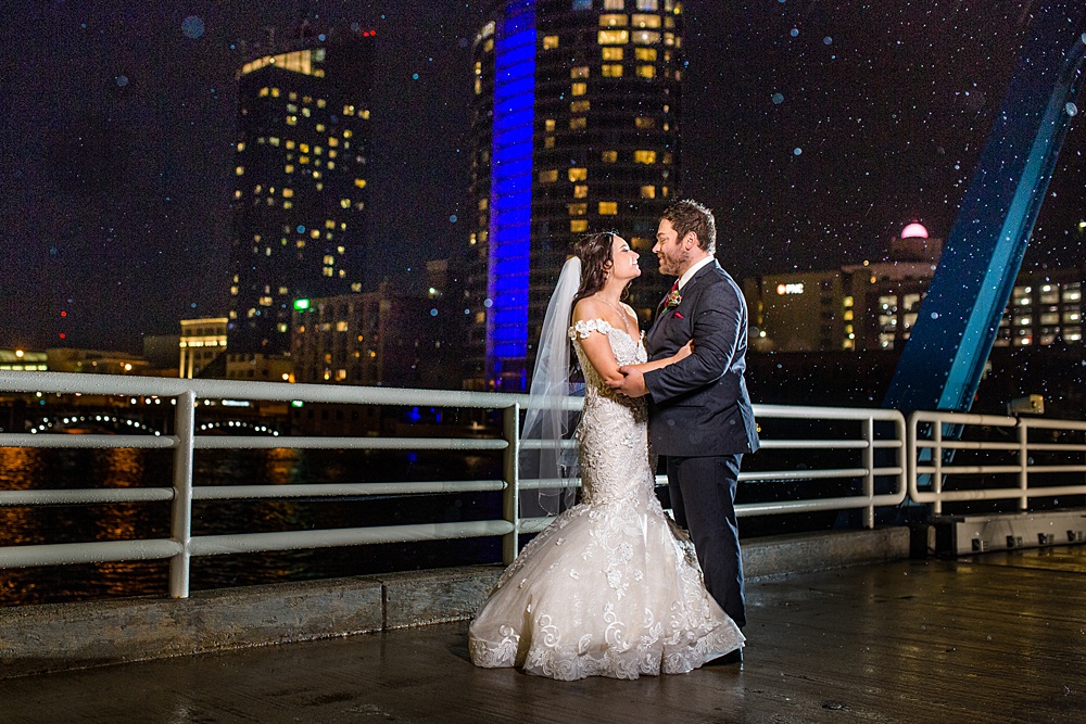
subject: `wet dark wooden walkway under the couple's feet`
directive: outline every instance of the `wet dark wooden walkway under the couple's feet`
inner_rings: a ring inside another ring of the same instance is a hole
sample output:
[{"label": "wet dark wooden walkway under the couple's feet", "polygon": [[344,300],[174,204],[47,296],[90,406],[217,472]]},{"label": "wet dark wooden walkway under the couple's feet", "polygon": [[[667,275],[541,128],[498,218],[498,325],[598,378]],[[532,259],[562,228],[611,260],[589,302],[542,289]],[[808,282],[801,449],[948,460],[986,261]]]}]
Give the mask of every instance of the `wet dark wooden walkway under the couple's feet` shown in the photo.
[{"label": "wet dark wooden walkway under the couple's feet", "polygon": [[0,722],[1086,722],[1086,546],[748,598],[742,670],[559,683],[476,669],[460,623],[4,681]]}]

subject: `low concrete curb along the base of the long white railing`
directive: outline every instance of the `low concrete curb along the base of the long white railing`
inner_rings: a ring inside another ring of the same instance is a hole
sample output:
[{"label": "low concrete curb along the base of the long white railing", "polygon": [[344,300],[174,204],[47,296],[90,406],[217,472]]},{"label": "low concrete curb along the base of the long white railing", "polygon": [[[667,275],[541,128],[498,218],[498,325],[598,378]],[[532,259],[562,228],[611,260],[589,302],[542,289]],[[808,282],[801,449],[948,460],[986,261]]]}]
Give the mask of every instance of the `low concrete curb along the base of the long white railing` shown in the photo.
[{"label": "low concrete curb along the base of the long white railing", "polygon": [[[748,579],[908,556],[905,526],[743,542]],[[0,679],[463,621],[501,573],[498,566],[470,566],[197,592],[182,599],[0,608]]]}]

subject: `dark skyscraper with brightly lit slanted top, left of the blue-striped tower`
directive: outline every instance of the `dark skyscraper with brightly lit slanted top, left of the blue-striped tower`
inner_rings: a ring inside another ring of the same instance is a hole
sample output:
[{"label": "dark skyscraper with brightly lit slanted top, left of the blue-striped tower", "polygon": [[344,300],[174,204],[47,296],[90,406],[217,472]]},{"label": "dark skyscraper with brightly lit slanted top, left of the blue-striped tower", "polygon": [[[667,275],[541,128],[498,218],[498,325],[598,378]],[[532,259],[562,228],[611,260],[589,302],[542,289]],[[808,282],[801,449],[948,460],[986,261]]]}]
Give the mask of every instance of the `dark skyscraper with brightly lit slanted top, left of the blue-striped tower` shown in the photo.
[{"label": "dark skyscraper with brightly lit slanted top, left of the blue-striped tower", "polygon": [[303,23],[238,72],[231,353],[287,353],[294,299],[362,291],[374,42]]}]

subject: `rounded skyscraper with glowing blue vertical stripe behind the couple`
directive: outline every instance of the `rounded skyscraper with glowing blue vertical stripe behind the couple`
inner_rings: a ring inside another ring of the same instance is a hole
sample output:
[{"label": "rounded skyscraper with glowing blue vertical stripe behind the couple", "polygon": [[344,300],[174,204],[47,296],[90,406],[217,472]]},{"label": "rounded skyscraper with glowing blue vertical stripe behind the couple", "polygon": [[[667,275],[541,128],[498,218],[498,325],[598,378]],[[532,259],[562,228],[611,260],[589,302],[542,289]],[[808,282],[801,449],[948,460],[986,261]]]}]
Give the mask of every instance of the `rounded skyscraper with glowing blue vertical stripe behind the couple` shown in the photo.
[{"label": "rounded skyscraper with glowing blue vertical stripe behind the couple", "polygon": [[507,0],[476,37],[473,386],[527,386],[584,232],[614,229],[648,257],[629,300],[642,321],[666,291],[651,250],[679,177],[681,21],[675,0]]}]

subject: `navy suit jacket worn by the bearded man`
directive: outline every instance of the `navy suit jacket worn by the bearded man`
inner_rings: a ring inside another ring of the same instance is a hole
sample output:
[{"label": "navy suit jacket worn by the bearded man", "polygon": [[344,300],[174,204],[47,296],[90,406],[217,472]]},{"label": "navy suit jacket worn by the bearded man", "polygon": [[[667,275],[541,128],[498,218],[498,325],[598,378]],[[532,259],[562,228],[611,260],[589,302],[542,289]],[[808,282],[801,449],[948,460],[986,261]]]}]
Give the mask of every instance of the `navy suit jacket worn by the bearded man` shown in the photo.
[{"label": "navy suit jacket worn by the bearded man", "polygon": [[645,373],[653,449],[679,457],[754,453],[759,443],[743,380],[743,293],[714,259],[694,274],[681,294],[679,306],[657,310],[646,339],[651,359],[670,357],[694,340],[694,354]]}]

